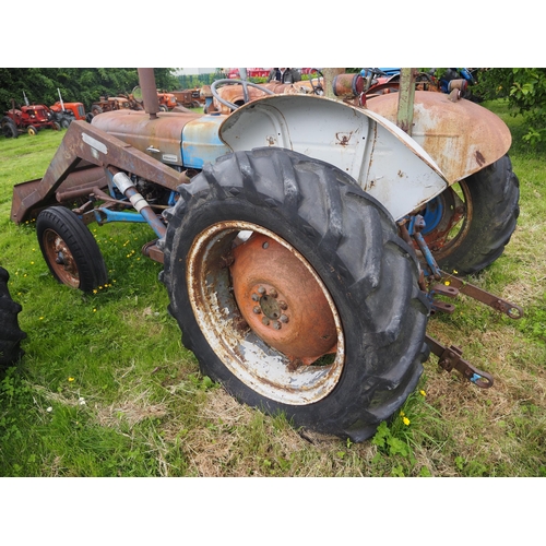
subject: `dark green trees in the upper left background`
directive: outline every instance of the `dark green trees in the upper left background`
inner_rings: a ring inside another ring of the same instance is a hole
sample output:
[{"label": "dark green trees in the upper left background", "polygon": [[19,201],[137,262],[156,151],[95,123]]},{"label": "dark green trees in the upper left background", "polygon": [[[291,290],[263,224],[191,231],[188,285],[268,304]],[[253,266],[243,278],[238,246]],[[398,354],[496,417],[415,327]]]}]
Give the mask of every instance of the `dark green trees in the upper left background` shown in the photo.
[{"label": "dark green trees in the upper left background", "polygon": [[[178,88],[174,69],[155,69],[157,88]],[[2,112],[25,104],[24,95],[32,104],[51,106],[62,99],[83,103],[88,109],[100,96],[131,93],[139,85],[139,73],[132,68],[0,68],[0,107]],[[24,93],[24,95],[23,95]]]}]

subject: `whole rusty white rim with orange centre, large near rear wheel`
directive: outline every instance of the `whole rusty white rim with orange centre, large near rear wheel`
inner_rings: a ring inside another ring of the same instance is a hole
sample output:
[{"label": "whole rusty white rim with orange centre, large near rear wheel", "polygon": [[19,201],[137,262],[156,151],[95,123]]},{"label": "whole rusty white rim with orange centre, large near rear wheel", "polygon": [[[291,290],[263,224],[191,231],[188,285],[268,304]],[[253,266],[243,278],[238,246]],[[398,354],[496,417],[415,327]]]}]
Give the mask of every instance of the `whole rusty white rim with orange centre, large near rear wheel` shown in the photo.
[{"label": "whole rusty white rim with orange centre, large near rear wheel", "polygon": [[345,364],[341,318],[292,245],[256,224],[226,221],[195,237],[186,263],[193,317],[234,376],[285,404],[332,392]]}]

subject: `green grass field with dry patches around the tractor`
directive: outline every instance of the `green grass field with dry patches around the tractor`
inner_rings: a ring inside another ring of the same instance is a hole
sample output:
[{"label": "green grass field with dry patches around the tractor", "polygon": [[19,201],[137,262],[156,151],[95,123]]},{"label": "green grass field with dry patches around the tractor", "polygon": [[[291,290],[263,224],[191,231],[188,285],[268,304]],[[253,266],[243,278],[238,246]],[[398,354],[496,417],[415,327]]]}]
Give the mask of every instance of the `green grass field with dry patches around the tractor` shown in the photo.
[{"label": "green grass field with dry patches around the tractor", "polygon": [[[546,476],[546,147],[487,104],[513,134],[518,228],[471,282],[524,307],[511,321],[465,297],[429,332],[491,373],[480,390],[425,365],[404,416],[355,444],[300,434],[239,405],[202,377],[167,313],[162,270],[141,256],[146,225],[92,225],[109,281],[96,294],[59,285],[34,225],[10,221],[12,187],[40,178],[62,132],[0,139],[0,265],[23,306],[25,356],[0,373],[1,476]],[[407,423],[408,419],[408,424]]]}]

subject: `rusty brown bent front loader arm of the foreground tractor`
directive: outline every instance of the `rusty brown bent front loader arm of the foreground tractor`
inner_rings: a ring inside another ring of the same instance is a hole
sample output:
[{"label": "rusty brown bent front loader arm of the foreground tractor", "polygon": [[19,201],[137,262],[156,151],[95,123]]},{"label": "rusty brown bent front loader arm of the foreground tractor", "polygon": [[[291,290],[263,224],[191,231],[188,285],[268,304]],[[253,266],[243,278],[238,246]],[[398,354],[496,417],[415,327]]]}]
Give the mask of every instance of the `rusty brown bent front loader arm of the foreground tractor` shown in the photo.
[{"label": "rusty brown bent front loader arm of the foreground tractor", "polygon": [[100,187],[105,187],[108,167],[138,174],[170,190],[187,181],[183,174],[116,136],[85,121],[73,121],[44,178],[13,188],[11,219],[21,224],[34,217],[39,210],[56,202],[58,192],[81,186],[93,187],[97,180],[100,180]]}]

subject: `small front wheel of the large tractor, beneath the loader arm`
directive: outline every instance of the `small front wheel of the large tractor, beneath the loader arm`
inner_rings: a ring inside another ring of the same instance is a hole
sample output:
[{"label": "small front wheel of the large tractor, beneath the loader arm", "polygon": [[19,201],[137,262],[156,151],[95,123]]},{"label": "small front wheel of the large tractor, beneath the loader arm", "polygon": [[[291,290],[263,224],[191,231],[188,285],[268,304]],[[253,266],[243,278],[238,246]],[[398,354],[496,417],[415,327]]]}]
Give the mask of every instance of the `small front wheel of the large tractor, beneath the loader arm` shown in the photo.
[{"label": "small front wheel of the large tractor, beneath the loader arm", "polygon": [[95,238],[72,211],[63,206],[41,211],[36,234],[44,259],[59,283],[92,292],[108,282]]}]

